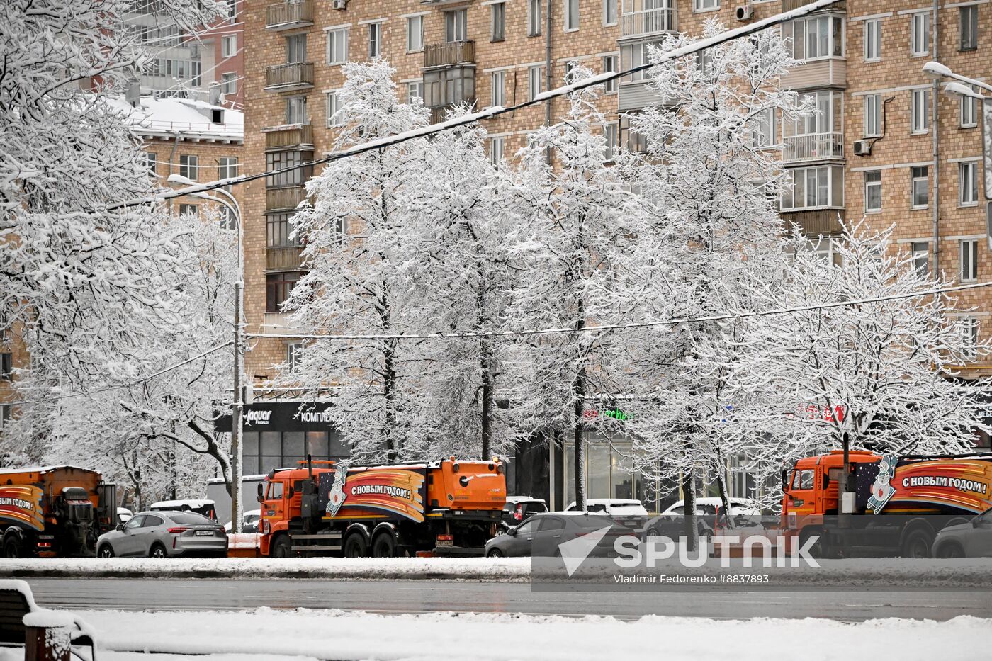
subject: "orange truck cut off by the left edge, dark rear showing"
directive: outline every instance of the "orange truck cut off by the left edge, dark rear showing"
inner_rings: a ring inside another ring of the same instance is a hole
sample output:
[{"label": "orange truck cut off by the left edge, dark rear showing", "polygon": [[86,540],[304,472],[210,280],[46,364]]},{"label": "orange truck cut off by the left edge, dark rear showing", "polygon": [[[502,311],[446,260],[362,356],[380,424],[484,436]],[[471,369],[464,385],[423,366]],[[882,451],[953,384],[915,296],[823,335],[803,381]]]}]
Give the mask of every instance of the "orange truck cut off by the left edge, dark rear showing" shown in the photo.
[{"label": "orange truck cut off by the left edge, dark rear showing", "polygon": [[92,556],[117,525],[117,486],[70,465],[0,468],[0,548],[6,558]]}]

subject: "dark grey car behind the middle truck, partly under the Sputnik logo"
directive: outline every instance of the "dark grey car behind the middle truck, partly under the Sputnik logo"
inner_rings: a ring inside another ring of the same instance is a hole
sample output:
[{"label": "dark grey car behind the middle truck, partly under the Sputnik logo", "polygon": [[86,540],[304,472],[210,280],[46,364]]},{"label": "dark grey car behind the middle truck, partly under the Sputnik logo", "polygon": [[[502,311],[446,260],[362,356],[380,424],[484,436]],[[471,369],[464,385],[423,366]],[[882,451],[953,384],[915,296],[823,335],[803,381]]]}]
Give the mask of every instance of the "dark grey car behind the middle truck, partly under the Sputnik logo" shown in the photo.
[{"label": "dark grey car behind the middle truck, partly under the Sputnik logo", "polygon": [[519,526],[510,528],[505,533],[496,535],[486,542],[485,555],[487,558],[546,556],[558,555],[558,545],[579,535],[612,526],[589,554],[595,557],[607,557],[613,552],[613,543],[619,535],[629,534],[623,525],[617,524],[613,517],[603,513],[587,512],[545,512],[535,514]]}]

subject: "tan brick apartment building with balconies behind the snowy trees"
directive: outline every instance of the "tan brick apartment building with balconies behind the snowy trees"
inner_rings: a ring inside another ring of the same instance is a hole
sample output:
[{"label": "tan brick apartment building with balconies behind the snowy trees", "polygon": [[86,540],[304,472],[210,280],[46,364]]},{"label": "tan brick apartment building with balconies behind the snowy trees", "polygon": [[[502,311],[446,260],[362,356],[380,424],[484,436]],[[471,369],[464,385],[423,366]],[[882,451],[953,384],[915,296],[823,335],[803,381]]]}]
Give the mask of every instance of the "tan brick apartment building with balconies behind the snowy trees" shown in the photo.
[{"label": "tan brick apartment building with balconies behind the snowy trees", "polygon": [[[453,103],[485,107],[533,98],[558,86],[575,64],[594,72],[637,66],[645,62],[648,45],[671,32],[698,34],[709,18],[734,27],[803,4],[246,0],[244,48],[252,63],[245,77],[246,172],[305,162],[331,149],[331,117],[338,108],[336,90],[345,62],[386,59],[397,69],[403,94],[422,97],[438,119]],[[770,116],[764,135],[756,139],[782,150],[793,185],[783,194],[781,211],[810,237],[811,249],[829,258],[830,238],[840,229],[838,218],[856,220],[867,214],[873,225],[894,224],[899,245],[918,255],[921,268],[935,267],[964,281],[992,278],[984,198],[976,183],[978,114],[936,89],[922,71],[928,60],[939,59],[955,71],[986,78],[992,74],[986,55],[990,28],[987,0],[935,10],[912,1],[854,0],[782,27],[800,61],[784,84],[808,95],[820,112],[803,122]],[[638,148],[625,114],[661,102],[643,75],[609,85],[599,103],[610,120],[606,130],[612,148]],[[560,116],[564,103],[558,99],[486,121],[492,158],[510,157],[529,132]],[[243,192],[249,331],[292,331],[280,306],[303,265],[288,228],[312,174],[297,171],[255,181]],[[962,332],[984,336],[992,331],[992,292],[962,298],[977,308],[962,323]],[[278,395],[266,395],[265,384],[276,376],[279,364],[292,360],[294,350],[295,340],[289,338],[253,343],[246,360],[248,376],[263,396]],[[975,357],[966,366],[969,374],[992,373],[992,357]],[[246,439],[252,443],[261,444],[259,457],[294,459],[292,452],[280,450],[289,442],[276,431],[267,440]],[[629,447],[623,438],[590,436],[589,495],[640,497],[658,504],[652,485],[624,467]],[[528,490],[545,494],[557,506],[566,504],[570,458],[561,452],[549,458],[547,449],[538,448],[523,454],[520,464],[528,464],[528,476],[518,482],[530,484]],[[268,467],[260,463],[258,469]],[[732,483],[740,495],[758,487],[740,471]]]}]

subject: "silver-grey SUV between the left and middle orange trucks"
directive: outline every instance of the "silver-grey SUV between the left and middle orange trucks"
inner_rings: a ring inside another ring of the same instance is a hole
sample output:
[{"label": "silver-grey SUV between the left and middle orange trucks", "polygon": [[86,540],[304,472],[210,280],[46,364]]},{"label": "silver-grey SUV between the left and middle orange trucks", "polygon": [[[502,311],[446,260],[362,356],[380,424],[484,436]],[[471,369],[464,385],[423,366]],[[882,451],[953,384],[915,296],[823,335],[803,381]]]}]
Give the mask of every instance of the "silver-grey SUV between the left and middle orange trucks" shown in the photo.
[{"label": "silver-grey SUV between the left and middle orange trucks", "polygon": [[138,512],[96,540],[100,558],[227,555],[223,526],[195,512]]}]

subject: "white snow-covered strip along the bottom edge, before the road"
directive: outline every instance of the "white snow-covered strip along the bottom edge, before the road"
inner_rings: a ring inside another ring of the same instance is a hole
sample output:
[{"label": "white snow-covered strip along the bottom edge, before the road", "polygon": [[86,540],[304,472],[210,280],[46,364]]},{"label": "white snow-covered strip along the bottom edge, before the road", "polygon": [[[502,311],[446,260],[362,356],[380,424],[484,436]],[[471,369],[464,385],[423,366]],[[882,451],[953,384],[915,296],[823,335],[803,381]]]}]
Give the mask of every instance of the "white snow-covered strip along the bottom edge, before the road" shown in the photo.
[{"label": "white snow-covered strip along the bottom edge, before the road", "polygon": [[[339,610],[153,612],[82,610],[100,658],[148,658],[141,650],[228,659],[576,661],[851,658],[976,659],[987,654],[992,620],[712,620],[645,616],[568,618],[511,614],[379,615]],[[186,657],[188,659],[188,657]],[[0,652],[0,661],[7,658]]]}]

